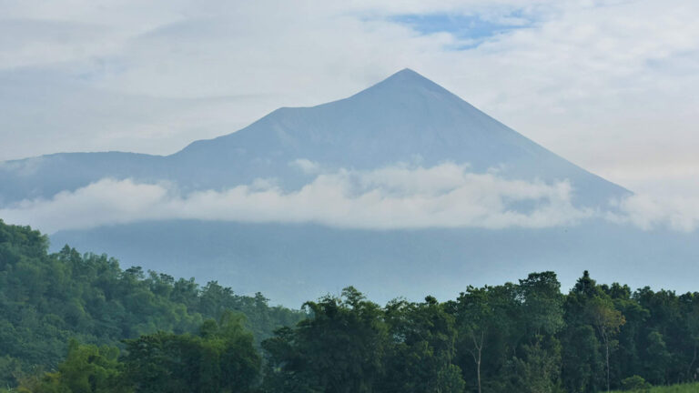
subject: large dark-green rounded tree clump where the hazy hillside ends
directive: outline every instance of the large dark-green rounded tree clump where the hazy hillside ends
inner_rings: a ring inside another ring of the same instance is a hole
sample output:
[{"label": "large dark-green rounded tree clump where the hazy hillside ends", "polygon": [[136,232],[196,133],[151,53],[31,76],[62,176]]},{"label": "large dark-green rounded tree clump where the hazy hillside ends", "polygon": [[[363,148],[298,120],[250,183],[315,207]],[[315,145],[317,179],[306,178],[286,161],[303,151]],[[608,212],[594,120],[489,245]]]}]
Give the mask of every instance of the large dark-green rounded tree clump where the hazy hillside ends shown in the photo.
[{"label": "large dark-green rounded tree clump where the hazy hillside ends", "polygon": [[384,373],[382,310],[355,288],[307,302],[311,317],[265,340],[270,392],[371,393]]}]

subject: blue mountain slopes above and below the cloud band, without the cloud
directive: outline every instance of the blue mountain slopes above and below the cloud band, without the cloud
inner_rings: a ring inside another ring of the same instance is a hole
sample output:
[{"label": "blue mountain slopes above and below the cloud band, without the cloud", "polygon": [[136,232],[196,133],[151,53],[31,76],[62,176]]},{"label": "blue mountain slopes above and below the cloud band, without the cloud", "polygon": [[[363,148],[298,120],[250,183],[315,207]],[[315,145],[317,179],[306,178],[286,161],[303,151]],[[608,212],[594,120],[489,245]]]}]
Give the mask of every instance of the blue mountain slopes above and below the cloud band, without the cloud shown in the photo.
[{"label": "blue mountain slopes above and below the cloud band, without the cloud", "polygon": [[[0,208],[51,198],[103,178],[165,180],[182,193],[274,178],[289,192],[318,176],[314,170],[299,170],[299,163],[326,172],[455,163],[508,180],[567,181],[572,205],[595,212],[613,211],[611,201],[631,195],[405,69],[349,98],[280,108],[238,132],[196,141],[171,156],[69,153],[7,161],[0,164]],[[696,234],[642,231],[603,219],[537,229],[391,230],[303,221],[162,219],[52,236],[54,248],[69,243],[108,252],[124,265],[199,281],[218,279],[289,306],[338,293],[347,285],[379,301],[396,294],[422,297],[427,291],[453,297],[468,284],[512,280],[544,269],[559,272],[563,285],[572,284],[583,269],[593,269],[603,281],[623,277],[632,285],[669,285],[673,280],[673,287],[689,288],[694,285],[690,277],[699,273],[696,240]]]}]

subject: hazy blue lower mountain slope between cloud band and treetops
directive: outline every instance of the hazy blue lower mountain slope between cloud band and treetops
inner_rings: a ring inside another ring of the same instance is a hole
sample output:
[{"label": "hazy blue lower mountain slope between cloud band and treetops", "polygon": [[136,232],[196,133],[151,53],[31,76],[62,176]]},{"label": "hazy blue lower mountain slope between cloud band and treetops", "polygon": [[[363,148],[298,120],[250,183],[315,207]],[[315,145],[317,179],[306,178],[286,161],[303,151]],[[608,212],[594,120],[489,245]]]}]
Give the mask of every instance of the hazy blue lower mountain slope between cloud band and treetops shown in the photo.
[{"label": "hazy blue lower mountain slope between cloud band and treetops", "polygon": [[[426,228],[365,230],[313,224],[192,220],[148,221],[59,231],[66,243],[99,250],[123,264],[218,280],[242,294],[262,291],[299,307],[309,298],[359,287],[385,302],[430,294],[448,299],[468,285],[516,281],[555,269],[563,290],[583,269],[632,287],[694,291],[699,236],[669,230],[592,223],[551,228]],[[669,284],[672,283],[672,286]]]}]

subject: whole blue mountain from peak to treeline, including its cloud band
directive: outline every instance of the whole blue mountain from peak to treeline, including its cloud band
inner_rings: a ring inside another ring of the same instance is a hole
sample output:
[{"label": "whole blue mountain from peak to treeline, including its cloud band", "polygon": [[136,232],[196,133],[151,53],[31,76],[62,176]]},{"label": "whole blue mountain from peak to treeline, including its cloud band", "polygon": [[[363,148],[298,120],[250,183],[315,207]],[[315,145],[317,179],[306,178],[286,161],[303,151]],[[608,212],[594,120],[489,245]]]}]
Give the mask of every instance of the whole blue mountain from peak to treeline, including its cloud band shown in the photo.
[{"label": "whole blue mountain from peak to treeline, including its cloud band", "polygon": [[544,269],[564,284],[593,267],[663,283],[657,264],[699,255],[694,234],[624,224],[622,186],[410,69],[171,156],[7,161],[0,184],[0,215],[54,232],[54,248],[290,305],[347,285],[375,299],[451,296]]}]

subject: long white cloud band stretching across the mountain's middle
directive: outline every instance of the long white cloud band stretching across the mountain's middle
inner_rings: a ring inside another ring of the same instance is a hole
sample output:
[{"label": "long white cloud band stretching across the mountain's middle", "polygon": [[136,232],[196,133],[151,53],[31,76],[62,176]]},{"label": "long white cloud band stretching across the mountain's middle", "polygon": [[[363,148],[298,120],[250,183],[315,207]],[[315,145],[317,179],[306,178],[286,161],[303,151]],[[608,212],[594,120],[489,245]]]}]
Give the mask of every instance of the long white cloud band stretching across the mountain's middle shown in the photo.
[{"label": "long white cloud band stretching across the mountain's middle", "polygon": [[592,215],[572,207],[571,193],[567,182],[506,180],[454,164],[391,166],[324,173],[293,192],[260,180],[183,195],[173,184],[102,179],[0,209],[0,217],[49,233],[171,218],[364,229],[555,227]]}]

